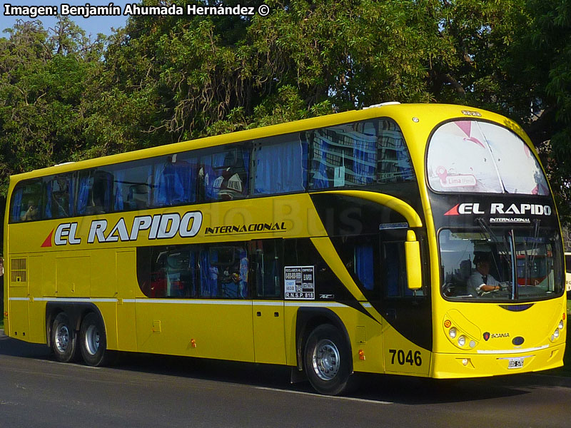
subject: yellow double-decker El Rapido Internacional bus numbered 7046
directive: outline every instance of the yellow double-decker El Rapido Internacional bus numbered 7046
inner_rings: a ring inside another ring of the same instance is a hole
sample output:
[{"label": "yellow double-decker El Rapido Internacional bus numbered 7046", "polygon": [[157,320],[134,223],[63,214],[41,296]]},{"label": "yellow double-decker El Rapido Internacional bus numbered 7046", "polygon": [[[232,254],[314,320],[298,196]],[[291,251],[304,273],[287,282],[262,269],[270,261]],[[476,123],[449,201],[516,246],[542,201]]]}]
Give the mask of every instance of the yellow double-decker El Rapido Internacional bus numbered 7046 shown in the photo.
[{"label": "yellow double-decker El Rapido Internacional bus numbered 7046", "polygon": [[114,351],[458,378],[562,365],[562,237],[529,138],[387,103],[11,177],[4,327]]}]

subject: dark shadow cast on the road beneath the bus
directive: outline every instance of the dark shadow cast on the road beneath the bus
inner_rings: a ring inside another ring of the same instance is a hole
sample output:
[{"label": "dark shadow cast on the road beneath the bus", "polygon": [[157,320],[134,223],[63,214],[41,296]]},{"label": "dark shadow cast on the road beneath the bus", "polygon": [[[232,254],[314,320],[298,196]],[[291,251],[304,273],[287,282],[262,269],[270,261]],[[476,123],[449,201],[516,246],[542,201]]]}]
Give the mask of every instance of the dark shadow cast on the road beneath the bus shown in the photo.
[{"label": "dark shadow cast on the road beneath the bus", "polygon": [[[0,356],[49,360],[46,345],[14,340],[0,334]],[[289,367],[192,357],[122,352],[111,370],[202,379],[243,386],[313,394],[308,382],[291,384]],[[348,397],[400,404],[461,403],[479,399],[517,397],[537,387],[571,387],[571,379],[550,375],[520,374],[480,379],[437,380],[387,374],[359,374],[358,388]]]}]

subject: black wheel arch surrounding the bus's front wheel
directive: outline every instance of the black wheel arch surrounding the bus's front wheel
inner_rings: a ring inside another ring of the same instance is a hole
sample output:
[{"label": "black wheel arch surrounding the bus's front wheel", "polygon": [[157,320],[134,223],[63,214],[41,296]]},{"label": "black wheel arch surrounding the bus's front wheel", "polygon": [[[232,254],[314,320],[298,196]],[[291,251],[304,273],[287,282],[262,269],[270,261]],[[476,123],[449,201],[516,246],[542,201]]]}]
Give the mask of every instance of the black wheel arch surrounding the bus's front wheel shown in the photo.
[{"label": "black wheel arch surrounding the bus's front wheel", "polygon": [[310,332],[322,324],[330,324],[337,328],[345,338],[349,350],[349,372],[353,373],[353,347],[349,333],[339,315],[327,307],[299,307],[295,320],[295,351],[298,370],[303,370],[303,348]]}]

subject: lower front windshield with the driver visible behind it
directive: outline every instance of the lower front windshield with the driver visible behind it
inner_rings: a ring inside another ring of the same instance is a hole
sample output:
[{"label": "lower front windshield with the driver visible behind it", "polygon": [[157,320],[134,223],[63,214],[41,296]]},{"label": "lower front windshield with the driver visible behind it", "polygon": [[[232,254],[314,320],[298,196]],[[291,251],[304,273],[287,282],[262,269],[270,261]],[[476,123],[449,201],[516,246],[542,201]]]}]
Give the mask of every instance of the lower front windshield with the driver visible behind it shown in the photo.
[{"label": "lower front windshield with the driver visible behind it", "polygon": [[525,301],[562,292],[560,237],[552,231],[445,229],[439,244],[445,297]]}]

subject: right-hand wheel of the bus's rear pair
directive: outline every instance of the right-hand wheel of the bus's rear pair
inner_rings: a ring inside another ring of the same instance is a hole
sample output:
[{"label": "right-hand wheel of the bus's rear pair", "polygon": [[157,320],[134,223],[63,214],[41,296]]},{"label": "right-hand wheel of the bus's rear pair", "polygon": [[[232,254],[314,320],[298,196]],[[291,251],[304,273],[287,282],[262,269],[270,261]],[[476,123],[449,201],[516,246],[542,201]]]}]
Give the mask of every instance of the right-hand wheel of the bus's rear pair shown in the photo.
[{"label": "right-hand wheel of the bus's rear pair", "polygon": [[111,352],[107,350],[107,336],[101,317],[90,312],[81,321],[79,349],[86,365],[98,367],[109,362]]}]

